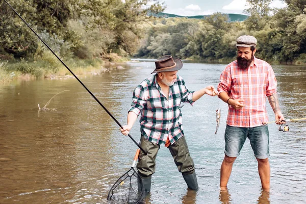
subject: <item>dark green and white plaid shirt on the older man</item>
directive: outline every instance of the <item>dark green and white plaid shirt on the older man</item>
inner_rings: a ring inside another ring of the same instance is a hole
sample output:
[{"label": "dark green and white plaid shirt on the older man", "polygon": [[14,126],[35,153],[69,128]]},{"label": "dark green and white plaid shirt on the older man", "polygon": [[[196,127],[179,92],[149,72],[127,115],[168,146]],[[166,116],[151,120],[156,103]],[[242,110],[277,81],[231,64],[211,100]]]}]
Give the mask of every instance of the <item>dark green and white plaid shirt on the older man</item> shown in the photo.
[{"label": "dark green and white plaid shirt on the older man", "polygon": [[182,77],[169,87],[167,99],[157,83],[157,74],[144,80],[133,92],[132,107],[129,110],[140,117],[140,132],[149,141],[165,145],[167,138],[171,144],[184,136],[181,102],[193,105],[193,91],[185,86]]}]

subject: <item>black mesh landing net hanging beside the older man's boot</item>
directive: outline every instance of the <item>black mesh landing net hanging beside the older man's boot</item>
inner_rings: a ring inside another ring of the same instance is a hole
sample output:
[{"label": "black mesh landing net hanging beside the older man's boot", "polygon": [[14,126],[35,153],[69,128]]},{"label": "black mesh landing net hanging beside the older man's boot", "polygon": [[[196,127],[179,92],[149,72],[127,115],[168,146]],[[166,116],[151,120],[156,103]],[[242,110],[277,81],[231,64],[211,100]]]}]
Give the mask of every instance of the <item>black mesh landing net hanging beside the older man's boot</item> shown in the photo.
[{"label": "black mesh landing net hanging beside the older man's boot", "polygon": [[[138,189],[138,182],[141,189]],[[134,168],[131,168],[112,186],[107,200],[111,203],[143,203],[144,196],[142,179]]]}]

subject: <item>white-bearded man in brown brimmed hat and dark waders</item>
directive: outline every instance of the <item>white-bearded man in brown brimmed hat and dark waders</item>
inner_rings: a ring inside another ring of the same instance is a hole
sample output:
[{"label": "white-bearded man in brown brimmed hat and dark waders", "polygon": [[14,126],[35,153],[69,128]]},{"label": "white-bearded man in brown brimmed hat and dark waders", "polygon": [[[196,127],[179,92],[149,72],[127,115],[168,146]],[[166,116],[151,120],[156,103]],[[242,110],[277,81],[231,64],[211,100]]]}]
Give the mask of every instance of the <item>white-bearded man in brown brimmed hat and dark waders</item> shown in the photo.
[{"label": "white-bearded man in brown brimmed hat and dark waders", "polygon": [[181,103],[193,105],[194,101],[204,94],[218,95],[213,86],[190,91],[177,71],[183,67],[179,58],[162,56],[155,61],[156,73],[145,79],[133,92],[132,107],[127,115],[127,124],[120,129],[123,135],[128,135],[133,124],[140,117],[140,146],[146,151],[140,152],[137,163],[138,174],[142,185],[150,192],[151,176],[155,173],[156,156],[160,146],[169,148],[174,162],[183,174],[189,189],[197,190],[198,184],[193,160],[183,132]]}]

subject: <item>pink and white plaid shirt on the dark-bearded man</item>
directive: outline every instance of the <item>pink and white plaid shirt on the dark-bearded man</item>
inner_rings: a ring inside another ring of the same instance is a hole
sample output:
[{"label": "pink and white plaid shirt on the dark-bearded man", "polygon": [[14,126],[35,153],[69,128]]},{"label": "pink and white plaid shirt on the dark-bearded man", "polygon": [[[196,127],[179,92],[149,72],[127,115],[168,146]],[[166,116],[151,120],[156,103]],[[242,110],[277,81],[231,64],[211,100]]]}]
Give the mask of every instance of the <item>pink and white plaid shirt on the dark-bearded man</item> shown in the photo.
[{"label": "pink and white plaid shirt on the dark-bearded man", "polygon": [[227,124],[236,127],[256,127],[268,122],[266,96],[276,93],[276,79],[272,67],[254,57],[253,64],[240,69],[237,60],[221,73],[218,91],[227,92],[233,99],[243,99],[243,107],[228,106]]}]

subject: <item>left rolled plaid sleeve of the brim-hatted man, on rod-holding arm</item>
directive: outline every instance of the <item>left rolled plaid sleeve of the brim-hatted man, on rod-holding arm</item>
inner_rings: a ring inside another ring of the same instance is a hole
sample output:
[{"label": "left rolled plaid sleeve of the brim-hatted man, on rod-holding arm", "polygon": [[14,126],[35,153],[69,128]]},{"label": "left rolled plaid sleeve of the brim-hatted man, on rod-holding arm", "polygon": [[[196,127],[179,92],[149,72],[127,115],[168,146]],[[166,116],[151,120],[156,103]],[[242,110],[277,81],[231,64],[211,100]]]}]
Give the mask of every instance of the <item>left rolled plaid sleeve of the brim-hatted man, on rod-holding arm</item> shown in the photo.
[{"label": "left rolled plaid sleeve of the brim-hatted man, on rod-holding arm", "polygon": [[138,85],[136,89],[133,91],[132,105],[128,112],[132,111],[136,113],[138,116],[144,105],[146,104],[145,96],[144,96],[144,88],[141,85]]}]

